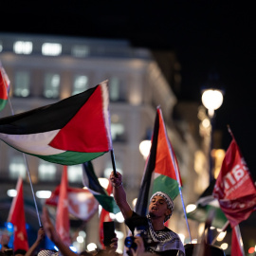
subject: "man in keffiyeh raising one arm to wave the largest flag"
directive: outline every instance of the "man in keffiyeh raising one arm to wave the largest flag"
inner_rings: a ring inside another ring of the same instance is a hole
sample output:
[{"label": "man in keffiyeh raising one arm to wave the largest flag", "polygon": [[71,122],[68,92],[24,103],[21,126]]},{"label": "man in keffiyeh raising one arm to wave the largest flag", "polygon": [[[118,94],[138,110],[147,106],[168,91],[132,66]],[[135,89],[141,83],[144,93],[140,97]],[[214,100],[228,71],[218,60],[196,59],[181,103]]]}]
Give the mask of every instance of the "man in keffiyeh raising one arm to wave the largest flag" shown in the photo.
[{"label": "man in keffiyeh raising one arm to wave the largest flag", "polygon": [[[179,236],[164,226],[172,216],[174,201],[165,192],[155,192],[149,204],[149,214],[144,217],[133,211],[126,200],[126,192],[122,186],[121,174],[112,172],[110,180],[113,186],[114,198],[123,214],[125,223],[133,235],[142,235],[146,251],[159,255],[185,255],[185,249]],[[141,233],[137,234],[138,229]],[[143,233],[143,234],[142,234]]]}]

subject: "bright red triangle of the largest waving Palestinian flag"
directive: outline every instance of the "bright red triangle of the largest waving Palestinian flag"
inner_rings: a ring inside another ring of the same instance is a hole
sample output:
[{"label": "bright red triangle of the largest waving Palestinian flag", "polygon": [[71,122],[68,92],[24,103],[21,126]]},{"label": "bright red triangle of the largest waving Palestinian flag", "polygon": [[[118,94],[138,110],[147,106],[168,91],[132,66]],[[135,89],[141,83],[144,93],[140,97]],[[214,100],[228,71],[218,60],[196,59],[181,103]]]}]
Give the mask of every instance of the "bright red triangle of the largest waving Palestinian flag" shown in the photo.
[{"label": "bright red triangle of the largest waving Palestinian flag", "polygon": [[108,142],[101,86],[98,86],[49,145],[64,151],[95,153],[109,151]]}]

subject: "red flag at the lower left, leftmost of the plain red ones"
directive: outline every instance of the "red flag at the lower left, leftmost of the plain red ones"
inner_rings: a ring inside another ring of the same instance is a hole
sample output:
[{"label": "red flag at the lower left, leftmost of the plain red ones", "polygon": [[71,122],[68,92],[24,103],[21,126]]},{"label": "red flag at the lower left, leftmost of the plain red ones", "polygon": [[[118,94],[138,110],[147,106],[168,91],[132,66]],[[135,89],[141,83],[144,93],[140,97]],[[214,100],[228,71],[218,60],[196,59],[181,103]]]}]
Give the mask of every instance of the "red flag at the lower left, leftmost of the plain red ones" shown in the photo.
[{"label": "red flag at the lower left, leftmost of the plain red ones", "polygon": [[25,249],[28,250],[27,242],[27,230],[24,211],[24,199],[23,199],[23,181],[19,177],[16,185],[17,195],[13,198],[11,207],[9,210],[8,222],[14,226],[14,242],[13,249]]}]

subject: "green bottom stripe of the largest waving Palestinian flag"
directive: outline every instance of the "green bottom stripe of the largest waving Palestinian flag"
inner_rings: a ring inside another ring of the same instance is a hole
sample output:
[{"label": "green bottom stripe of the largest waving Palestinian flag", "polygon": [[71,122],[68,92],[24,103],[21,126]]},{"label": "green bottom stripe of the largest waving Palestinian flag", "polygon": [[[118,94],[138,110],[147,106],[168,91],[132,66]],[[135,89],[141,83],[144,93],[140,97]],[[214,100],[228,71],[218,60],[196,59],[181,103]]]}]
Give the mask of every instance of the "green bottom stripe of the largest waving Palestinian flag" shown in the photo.
[{"label": "green bottom stripe of the largest waving Palestinian flag", "polygon": [[[103,154],[105,154],[105,152],[83,153],[83,152],[66,151],[58,155],[35,155],[35,156],[40,157],[52,163],[58,163],[62,165],[76,165],[76,164],[82,164],[83,162],[90,161]],[[29,154],[29,155],[32,155],[32,154]]]}]

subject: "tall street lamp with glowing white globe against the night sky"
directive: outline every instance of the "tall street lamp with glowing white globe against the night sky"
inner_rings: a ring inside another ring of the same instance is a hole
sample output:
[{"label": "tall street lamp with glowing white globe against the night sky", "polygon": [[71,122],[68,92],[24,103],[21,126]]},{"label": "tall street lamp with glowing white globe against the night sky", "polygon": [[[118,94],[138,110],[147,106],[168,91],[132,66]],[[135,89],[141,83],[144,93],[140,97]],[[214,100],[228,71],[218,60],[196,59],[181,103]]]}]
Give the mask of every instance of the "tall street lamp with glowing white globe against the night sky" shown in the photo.
[{"label": "tall street lamp with glowing white globe against the night sky", "polygon": [[202,92],[202,103],[208,109],[208,115],[210,119],[210,147],[209,147],[209,178],[210,182],[213,179],[212,175],[212,137],[213,137],[213,128],[214,128],[214,111],[218,109],[223,102],[223,91],[219,89],[206,89]]}]

